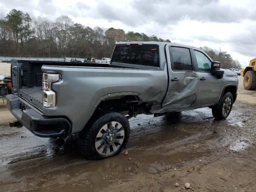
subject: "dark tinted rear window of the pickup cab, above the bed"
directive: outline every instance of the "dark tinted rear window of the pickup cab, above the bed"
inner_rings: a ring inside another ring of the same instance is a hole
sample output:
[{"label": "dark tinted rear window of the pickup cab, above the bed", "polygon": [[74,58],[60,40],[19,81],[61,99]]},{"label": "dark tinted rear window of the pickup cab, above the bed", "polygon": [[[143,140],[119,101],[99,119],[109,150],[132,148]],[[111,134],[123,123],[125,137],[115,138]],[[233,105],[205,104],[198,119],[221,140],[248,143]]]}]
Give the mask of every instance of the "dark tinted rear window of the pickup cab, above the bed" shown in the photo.
[{"label": "dark tinted rear window of the pickup cab, above the bed", "polygon": [[112,63],[124,63],[159,67],[159,46],[158,45],[138,45],[138,46],[116,46]]}]

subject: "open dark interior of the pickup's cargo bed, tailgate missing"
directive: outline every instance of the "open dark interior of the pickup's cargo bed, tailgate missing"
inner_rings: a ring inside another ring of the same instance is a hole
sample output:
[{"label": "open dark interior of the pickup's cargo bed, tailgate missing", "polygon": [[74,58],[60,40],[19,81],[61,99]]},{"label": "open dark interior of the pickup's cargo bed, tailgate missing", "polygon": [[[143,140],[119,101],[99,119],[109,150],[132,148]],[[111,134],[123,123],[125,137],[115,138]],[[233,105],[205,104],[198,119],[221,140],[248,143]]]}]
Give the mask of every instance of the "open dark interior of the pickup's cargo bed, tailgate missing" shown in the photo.
[{"label": "open dark interior of the pickup's cargo bed, tailgate missing", "polygon": [[[83,63],[83,62],[56,62],[56,61],[12,61],[12,78],[14,94],[28,101],[39,110],[42,106],[42,66],[66,66],[66,67],[94,67],[94,68],[133,68],[131,66],[116,66],[107,63]],[[18,70],[17,70],[18,69]]]}]

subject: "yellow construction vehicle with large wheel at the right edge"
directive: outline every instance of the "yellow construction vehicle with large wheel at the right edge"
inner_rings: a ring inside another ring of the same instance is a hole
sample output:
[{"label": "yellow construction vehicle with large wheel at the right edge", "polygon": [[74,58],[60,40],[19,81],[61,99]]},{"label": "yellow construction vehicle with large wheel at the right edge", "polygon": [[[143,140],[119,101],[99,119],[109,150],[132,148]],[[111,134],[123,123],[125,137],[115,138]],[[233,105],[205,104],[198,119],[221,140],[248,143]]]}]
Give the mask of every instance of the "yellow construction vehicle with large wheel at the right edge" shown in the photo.
[{"label": "yellow construction vehicle with large wheel at the right edge", "polygon": [[244,88],[246,90],[256,89],[256,58],[250,60],[249,66],[241,69],[241,75],[244,77]]}]

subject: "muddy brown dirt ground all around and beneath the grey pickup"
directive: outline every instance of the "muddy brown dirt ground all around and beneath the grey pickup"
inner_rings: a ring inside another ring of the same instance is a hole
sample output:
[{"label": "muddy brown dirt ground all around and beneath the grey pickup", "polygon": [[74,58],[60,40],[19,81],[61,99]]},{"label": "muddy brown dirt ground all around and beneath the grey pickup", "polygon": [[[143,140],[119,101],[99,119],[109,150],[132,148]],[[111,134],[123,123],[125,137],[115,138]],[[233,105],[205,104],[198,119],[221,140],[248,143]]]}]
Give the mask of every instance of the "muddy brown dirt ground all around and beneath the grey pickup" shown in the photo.
[{"label": "muddy brown dirt ground all around and beneath the grey pickup", "polygon": [[226,120],[214,120],[209,108],[139,115],[130,119],[128,155],[98,161],[81,156],[76,135],[57,148],[53,139],[10,128],[14,117],[1,103],[0,191],[255,192],[256,91],[239,80]]}]

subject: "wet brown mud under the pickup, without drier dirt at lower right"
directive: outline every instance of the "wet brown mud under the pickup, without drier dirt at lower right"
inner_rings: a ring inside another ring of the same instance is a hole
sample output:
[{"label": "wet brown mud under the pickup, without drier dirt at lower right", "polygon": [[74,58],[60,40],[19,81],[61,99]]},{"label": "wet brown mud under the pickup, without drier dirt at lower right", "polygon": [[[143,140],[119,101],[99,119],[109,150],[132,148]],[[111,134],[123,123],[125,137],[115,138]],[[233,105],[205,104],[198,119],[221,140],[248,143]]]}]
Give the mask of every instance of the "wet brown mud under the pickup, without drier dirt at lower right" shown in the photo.
[{"label": "wet brown mud under the pickup, without drier dirt at lower right", "polygon": [[[128,155],[122,153],[100,161],[83,158],[77,135],[70,137],[63,148],[56,148],[53,139],[36,137],[24,127],[2,125],[0,188],[93,191],[120,178],[132,179],[138,172],[156,174],[216,150],[222,151],[238,139],[228,132],[223,137],[222,131],[237,127],[236,122],[246,118],[234,110],[228,120],[216,121],[208,108],[160,117],[139,115],[130,119]],[[234,126],[227,126],[230,122]]]}]

